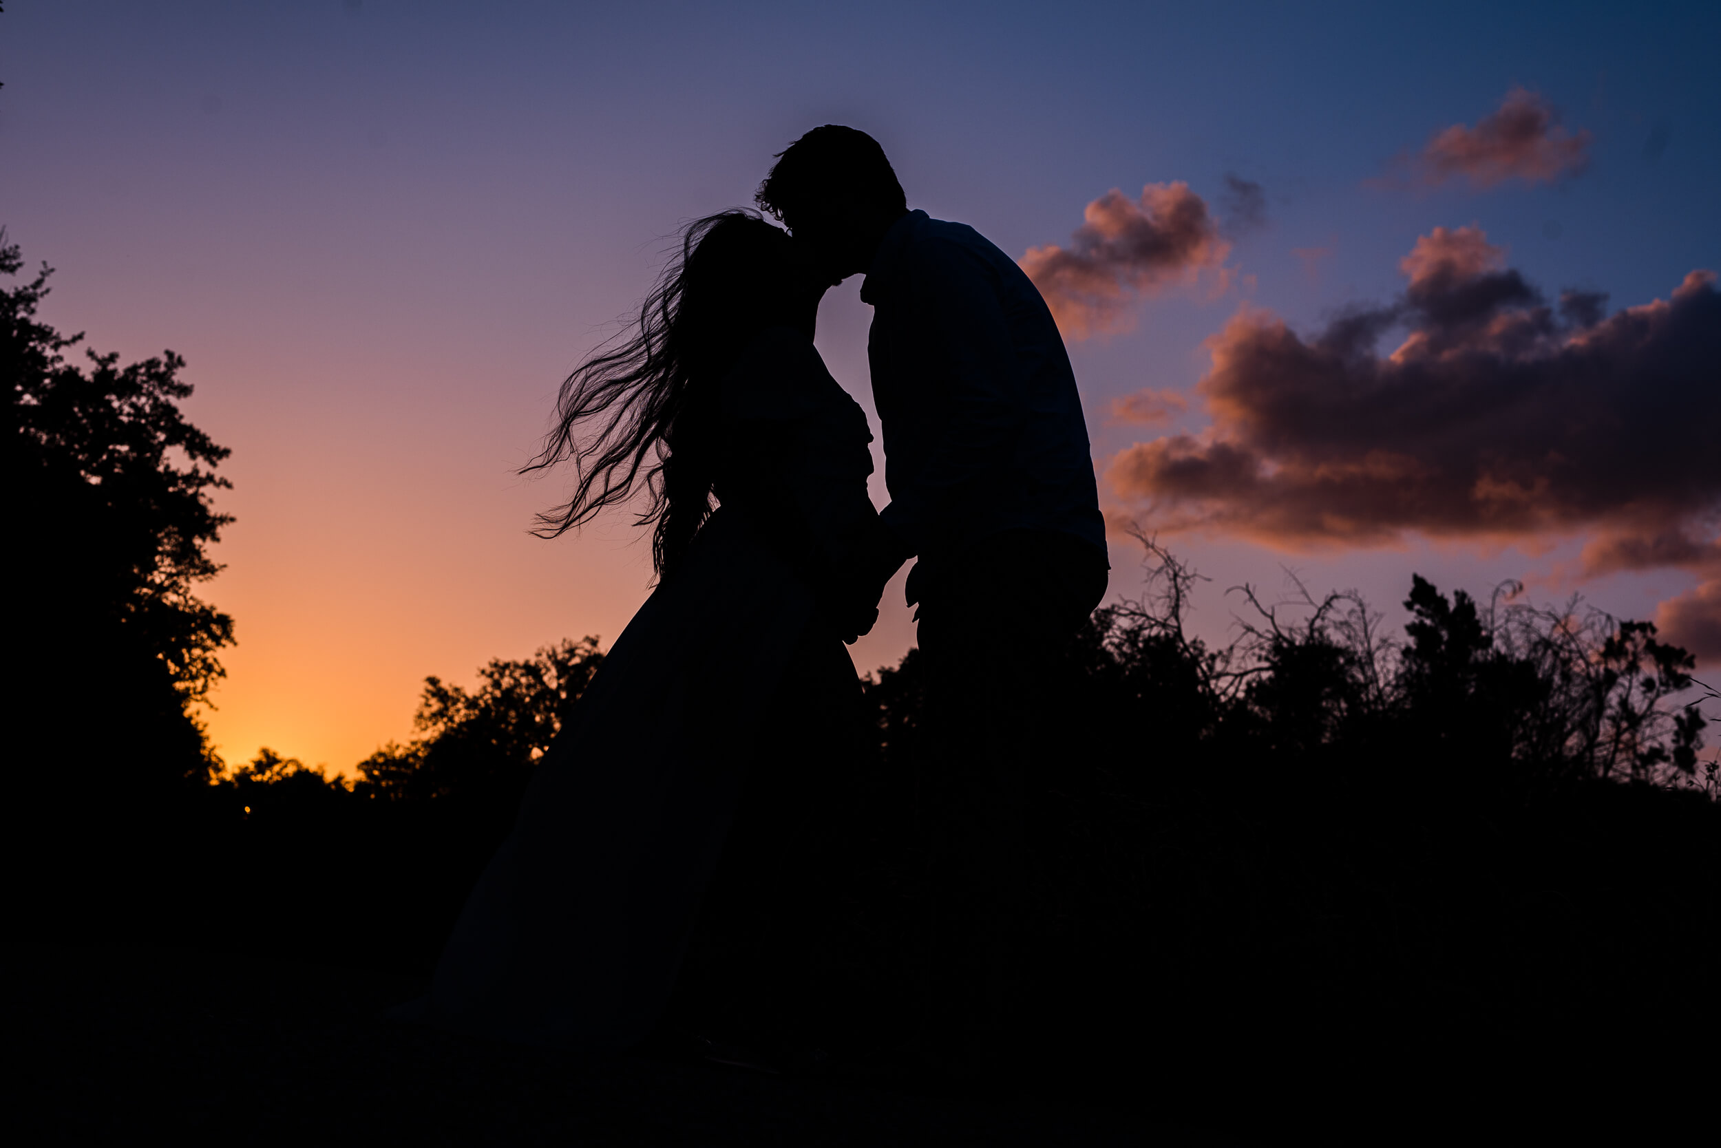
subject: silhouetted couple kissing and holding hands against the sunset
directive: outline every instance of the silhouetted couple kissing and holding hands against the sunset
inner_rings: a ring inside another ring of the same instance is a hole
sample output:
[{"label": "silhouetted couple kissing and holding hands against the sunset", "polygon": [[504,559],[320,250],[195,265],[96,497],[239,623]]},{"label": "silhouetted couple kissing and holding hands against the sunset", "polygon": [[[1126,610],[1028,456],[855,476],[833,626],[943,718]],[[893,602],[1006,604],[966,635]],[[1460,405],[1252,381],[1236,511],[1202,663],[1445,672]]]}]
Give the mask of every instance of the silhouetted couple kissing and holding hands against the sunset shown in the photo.
[{"label": "silhouetted couple kissing and holding hands against the sunset", "polygon": [[[859,716],[843,642],[916,558],[936,749],[922,1045],[960,1067],[1010,1036],[1036,675],[1105,592],[1076,379],[1022,270],[910,212],[871,136],[807,133],[757,201],[786,231],[742,210],[692,224],[637,327],[563,386],[535,466],[571,460],[578,480],[542,534],[644,497],[659,583],[537,766],[420,1014],[625,1048],[682,974],[704,1019],[756,1019],[745,1040],[817,1040],[817,859],[847,847],[821,778],[852,761]],[[812,346],[821,296],[860,272],[883,513],[866,417]],[[725,969],[754,984],[730,1012],[709,1003]]]}]

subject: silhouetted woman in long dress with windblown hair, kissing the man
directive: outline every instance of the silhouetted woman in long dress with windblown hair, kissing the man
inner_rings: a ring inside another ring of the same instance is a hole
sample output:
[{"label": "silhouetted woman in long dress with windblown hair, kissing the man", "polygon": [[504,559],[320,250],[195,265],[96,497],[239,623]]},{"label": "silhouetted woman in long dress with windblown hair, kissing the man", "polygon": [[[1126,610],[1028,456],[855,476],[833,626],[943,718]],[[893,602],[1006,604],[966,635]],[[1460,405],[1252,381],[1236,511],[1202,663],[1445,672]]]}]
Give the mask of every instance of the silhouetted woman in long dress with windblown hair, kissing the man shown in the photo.
[{"label": "silhouetted woman in long dress with windblown hair, kissing the man", "polygon": [[[879,592],[852,573],[879,528],[871,434],[812,348],[823,291],[785,232],[749,212],[702,219],[637,327],[563,384],[534,468],[571,461],[577,485],[540,534],[644,494],[659,583],[537,766],[420,1019],[638,1043],[737,807],[792,812],[795,776],[761,785],[754,769],[761,726],[821,707],[838,719],[859,688],[843,640],[873,625]],[[807,750],[799,764],[817,771]]]}]

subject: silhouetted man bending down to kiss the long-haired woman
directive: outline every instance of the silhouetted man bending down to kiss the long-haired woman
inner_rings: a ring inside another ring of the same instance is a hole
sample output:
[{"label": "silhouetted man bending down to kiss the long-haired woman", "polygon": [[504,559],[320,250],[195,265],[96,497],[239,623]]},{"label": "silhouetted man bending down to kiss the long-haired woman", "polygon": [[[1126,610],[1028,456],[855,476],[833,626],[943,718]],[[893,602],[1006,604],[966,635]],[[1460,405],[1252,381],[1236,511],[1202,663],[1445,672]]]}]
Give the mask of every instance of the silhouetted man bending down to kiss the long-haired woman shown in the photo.
[{"label": "silhouetted man bending down to kiss the long-haired woman", "polygon": [[831,282],[866,272],[895,535],[873,573],[919,559],[907,599],[938,747],[929,1052],[974,1069],[1015,997],[1038,685],[1107,583],[1076,375],[1027,275],[972,227],[910,212],[866,133],[809,131],[757,198]]}]

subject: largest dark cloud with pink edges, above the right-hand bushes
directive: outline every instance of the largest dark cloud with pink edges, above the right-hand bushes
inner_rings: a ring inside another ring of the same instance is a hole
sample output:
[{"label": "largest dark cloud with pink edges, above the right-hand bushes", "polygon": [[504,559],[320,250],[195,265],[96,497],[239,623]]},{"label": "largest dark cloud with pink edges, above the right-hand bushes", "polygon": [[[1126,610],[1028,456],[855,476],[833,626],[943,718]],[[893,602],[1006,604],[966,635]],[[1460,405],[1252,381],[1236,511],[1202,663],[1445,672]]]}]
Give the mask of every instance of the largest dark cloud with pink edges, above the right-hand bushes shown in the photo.
[{"label": "largest dark cloud with pink edges, above the right-hand bushes", "polygon": [[1704,587],[1664,608],[1693,640],[1707,633],[1699,620],[1721,601],[1716,277],[1692,272],[1668,299],[1606,315],[1595,293],[1549,303],[1477,227],[1437,227],[1399,267],[1399,298],[1306,337],[1239,312],[1208,341],[1212,429],[1122,451],[1112,491],[1160,530],[1289,549],[1587,534],[1582,575],[1699,573]]}]

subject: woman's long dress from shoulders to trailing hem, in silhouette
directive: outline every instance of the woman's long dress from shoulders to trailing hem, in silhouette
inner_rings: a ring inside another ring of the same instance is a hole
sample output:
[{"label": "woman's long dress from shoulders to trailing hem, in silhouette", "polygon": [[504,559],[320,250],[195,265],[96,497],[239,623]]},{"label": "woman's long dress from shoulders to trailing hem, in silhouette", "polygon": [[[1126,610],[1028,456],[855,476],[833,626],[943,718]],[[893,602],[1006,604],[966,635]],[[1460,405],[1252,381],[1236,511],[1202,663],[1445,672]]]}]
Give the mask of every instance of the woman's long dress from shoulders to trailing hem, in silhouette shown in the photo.
[{"label": "woman's long dress from shoulders to trailing hem, in silhouette", "polygon": [[754,339],[719,410],[719,508],[604,657],[473,888],[430,995],[403,1015],[568,1050],[642,1041],[675,986],[790,657],[828,642],[854,676],[821,613],[821,580],[876,528],[866,415],[788,327]]}]

